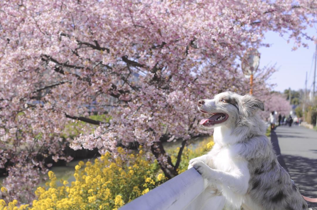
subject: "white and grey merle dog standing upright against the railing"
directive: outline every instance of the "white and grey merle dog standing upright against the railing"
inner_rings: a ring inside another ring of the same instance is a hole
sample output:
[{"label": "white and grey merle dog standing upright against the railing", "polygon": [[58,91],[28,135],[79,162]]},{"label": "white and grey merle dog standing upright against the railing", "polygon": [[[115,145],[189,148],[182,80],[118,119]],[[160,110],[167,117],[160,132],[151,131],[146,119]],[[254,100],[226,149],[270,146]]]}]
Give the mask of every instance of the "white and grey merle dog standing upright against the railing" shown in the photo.
[{"label": "white and grey merle dog standing upright against the railing", "polygon": [[[223,92],[199,100],[198,110],[211,116],[200,124],[214,128],[215,145],[189,161],[208,184],[204,209],[307,210],[307,202],[277,161],[258,116],[264,104],[252,95]],[[209,205],[209,206],[208,206]]]}]

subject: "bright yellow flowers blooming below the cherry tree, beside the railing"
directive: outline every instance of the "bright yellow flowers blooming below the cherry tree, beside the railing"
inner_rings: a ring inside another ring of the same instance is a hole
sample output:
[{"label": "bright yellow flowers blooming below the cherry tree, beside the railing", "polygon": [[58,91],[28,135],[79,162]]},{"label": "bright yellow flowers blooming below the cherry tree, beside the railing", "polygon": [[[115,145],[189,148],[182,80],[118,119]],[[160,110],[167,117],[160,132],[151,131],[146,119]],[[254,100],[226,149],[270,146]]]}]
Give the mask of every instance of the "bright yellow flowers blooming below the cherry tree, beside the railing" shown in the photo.
[{"label": "bright yellow flowers blooming below the cherry tree, beside the railing", "polygon": [[[211,137],[201,142],[196,149],[185,147],[178,173],[187,169],[188,160],[209,151],[213,145]],[[118,157],[106,153],[96,158],[94,164],[80,161],[75,166],[75,181],[71,183],[66,180],[57,183],[55,174],[49,171],[49,182],[46,187],[36,189],[37,199],[31,206],[17,206],[16,200],[8,204],[0,200],[0,210],[117,210],[166,181],[164,174],[159,172],[159,164],[146,160],[142,148],[134,154],[128,154],[121,147],[118,151]],[[168,151],[174,163],[178,151],[179,148]],[[2,187],[1,191],[7,190]]]}]

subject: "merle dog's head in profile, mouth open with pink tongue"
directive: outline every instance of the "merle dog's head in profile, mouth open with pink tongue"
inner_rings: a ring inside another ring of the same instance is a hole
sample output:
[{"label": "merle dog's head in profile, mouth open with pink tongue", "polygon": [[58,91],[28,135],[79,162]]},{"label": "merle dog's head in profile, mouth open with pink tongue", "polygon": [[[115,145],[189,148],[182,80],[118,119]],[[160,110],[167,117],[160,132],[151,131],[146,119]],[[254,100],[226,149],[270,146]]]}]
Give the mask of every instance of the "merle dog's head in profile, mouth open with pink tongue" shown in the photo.
[{"label": "merle dog's head in profile, mouth open with pink tongue", "polygon": [[241,117],[250,117],[258,109],[264,111],[263,102],[256,97],[233,92],[219,93],[210,100],[199,100],[197,106],[200,112],[211,114],[208,119],[200,121],[206,128],[237,125]]}]

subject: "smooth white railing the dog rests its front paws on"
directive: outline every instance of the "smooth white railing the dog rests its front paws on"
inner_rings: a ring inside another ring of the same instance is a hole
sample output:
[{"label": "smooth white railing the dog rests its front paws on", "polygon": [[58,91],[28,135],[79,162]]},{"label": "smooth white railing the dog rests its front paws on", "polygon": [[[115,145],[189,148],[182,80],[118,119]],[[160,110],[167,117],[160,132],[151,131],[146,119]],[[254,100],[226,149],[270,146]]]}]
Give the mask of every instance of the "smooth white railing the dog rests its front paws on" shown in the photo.
[{"label": "smooth white railing the dog rests its front paws on", "polygon": [[191,168],[127,203],[119,210],[192,210],[204,204],[206,184],[203,177]]}]

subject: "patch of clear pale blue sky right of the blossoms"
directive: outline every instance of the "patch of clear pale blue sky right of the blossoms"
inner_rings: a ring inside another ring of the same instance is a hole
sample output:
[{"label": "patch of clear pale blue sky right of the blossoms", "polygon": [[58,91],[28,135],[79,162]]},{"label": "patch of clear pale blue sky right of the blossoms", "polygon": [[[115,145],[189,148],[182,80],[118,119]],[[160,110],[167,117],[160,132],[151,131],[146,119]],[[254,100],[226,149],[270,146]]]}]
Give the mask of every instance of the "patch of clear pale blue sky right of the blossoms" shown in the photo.
[{"label": "patch of clear pale blue sky right of the blossoms", "polygon": [[[316,26],[308,28],[309,35],[317,35]],[[314,62],[313,56],[315,51],[315,44],[313,41],[304,40],[309,48],[300,47],[292,51],[294,42],[287,43],[288,35],[281,37],[278,33],[267,32],[265,34],[265,43],[272,44],[270,47],[261,47],[260,68],[267,65],[275,65],[277,72],[275,72],[270,83],[275,83],[274,90],[284,91],[289,87],[293,90],[305,88],[305,77],[307,74],[307,89],[312,89],[314,77]],[[316,78],[317,79],[317,78]],[[316,81],[317,86],[317,81]],[[317,89],[317,87],[315,87]]]}]

